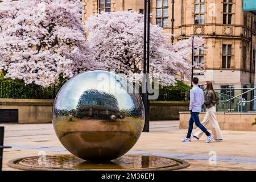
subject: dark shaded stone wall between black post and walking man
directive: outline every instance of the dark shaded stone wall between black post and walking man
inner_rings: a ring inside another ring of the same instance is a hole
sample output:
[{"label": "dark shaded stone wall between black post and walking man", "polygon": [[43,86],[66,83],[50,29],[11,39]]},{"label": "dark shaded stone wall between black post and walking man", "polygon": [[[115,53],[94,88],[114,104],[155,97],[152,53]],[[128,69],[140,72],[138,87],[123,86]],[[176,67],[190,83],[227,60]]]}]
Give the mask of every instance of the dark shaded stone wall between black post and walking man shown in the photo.
[{"label": "dark shaded stone wall between black post and walking man", "polygon": [[188,110],[189,102],[150,101],[150,120],[179,120],[179,112]]}]

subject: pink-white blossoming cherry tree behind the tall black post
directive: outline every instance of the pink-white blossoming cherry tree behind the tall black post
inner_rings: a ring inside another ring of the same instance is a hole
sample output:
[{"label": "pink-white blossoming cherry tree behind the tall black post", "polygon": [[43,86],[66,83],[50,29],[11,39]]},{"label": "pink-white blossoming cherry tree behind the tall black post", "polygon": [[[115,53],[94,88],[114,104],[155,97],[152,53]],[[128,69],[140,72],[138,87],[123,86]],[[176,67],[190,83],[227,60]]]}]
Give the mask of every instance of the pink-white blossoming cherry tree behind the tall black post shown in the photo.
[{"label": "pink-white blossoming cherry tree behind the tall black post", "polygon": [[[88,42],[97,61],[126,76],[139,78],[143,66],[143,15],[131,12],[102,13],[86,22]],[[190,77],[192,38],[168,43],[163,28],[151,24],[150,73],[162,85],[174,85],[175,79]],[[195,47],[204,40],[195,38]]]}]

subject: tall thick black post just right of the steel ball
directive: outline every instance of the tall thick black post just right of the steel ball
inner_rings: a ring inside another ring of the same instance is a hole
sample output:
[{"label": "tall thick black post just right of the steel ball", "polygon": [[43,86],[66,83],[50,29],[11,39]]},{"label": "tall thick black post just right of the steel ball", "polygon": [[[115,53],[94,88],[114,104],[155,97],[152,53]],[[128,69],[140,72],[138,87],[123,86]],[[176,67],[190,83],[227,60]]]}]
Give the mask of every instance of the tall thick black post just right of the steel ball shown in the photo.
[{"label": "tall thick black post just right of the steel ball", "polygon": [[143,50],[143,89],[142,100],[145,109],[144,132],[150,131],[150,107],[148,100],[148,74],[150,63],[150,0],[144,0],[144,50]]}]

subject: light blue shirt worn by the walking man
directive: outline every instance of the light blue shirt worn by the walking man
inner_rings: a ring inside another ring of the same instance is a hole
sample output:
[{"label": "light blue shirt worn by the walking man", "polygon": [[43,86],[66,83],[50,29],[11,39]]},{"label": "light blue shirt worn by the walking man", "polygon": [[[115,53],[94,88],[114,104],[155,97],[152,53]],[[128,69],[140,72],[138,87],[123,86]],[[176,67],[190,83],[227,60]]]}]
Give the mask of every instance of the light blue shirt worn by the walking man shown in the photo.
[{"label": "light blue shirt worn by the walking man", "polygon": [[204,92],[198,85],[194,85],[190,90],[189,110],[200,113],[204,104]]}]

